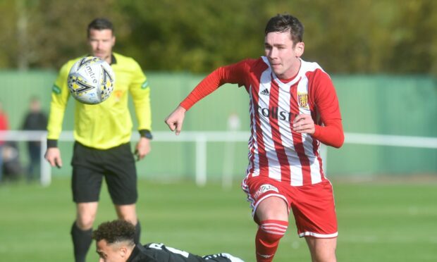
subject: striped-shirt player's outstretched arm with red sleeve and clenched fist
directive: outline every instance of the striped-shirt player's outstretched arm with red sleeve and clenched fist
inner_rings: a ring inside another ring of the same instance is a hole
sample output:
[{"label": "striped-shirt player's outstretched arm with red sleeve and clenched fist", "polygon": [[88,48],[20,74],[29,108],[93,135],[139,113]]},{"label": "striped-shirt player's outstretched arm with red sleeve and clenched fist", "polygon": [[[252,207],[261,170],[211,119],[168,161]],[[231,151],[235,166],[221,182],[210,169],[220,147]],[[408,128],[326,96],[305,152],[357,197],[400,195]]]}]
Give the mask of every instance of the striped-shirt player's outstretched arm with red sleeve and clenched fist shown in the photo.
[{"label": "striped-shirt player's outstretched arm with red sleeve and clenched fist", "polygon": [[164,120],[170,130],[176,131],[176,135],[179,135],[180,130],[182,130],[185,112],[222,85],[226,83],[238,84],[239,86],[244,85],[245,70],[247,70],[247,61],[241,61],[230,66],[217,68],[207,75]]}]

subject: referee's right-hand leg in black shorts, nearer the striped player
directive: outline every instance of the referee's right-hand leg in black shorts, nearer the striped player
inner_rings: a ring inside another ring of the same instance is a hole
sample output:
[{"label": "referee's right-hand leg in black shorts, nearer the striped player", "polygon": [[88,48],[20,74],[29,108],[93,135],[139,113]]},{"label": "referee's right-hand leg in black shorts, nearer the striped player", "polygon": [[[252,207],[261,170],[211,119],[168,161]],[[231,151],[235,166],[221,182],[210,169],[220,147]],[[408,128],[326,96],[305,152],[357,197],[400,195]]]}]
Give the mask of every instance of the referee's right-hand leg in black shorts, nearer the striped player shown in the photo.
[{"label": "referee's right-hand leg in black shorts, nearer the striped player", "polygon": [[136,205],[137,170],[130,144],[122,144],[105,152],[105,175],[108,191],[116,208],[118,218],[135,225],[135,243],[140,242],[141,225],[137,218]]}]

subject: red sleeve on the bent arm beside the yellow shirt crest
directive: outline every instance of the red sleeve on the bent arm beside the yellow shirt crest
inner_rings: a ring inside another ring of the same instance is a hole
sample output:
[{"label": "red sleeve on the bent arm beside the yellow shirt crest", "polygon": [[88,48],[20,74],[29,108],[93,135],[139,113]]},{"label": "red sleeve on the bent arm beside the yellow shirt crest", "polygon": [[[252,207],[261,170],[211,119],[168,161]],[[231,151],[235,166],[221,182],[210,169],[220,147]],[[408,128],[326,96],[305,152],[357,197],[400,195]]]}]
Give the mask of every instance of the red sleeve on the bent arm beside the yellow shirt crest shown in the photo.
[{"label": "red sleeve on the bent arm beside the yellow shirt crest", "polygon": [[328,74],[323,70],[316,71],[312,87],[314,104],[320,119],[312,136],[328,146],[339,148],[343,145],[345,135],[336,89]]}]

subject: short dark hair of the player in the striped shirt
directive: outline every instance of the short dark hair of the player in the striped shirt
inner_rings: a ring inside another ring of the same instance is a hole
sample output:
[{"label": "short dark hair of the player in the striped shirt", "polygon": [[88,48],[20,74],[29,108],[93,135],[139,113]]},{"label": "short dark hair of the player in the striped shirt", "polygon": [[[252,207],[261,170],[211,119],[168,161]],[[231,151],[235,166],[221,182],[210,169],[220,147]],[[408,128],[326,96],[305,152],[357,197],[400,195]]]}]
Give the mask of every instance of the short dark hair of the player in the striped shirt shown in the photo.
[{"label": "short dark hair of the player in the striped shirt", "polygon": [[302,42],[304,39],[304,25],[293,15],[278,14],[270,18],[266,25],[265,35],[269,32],[290,32],[293,44]]}]

